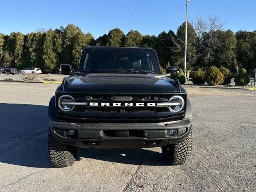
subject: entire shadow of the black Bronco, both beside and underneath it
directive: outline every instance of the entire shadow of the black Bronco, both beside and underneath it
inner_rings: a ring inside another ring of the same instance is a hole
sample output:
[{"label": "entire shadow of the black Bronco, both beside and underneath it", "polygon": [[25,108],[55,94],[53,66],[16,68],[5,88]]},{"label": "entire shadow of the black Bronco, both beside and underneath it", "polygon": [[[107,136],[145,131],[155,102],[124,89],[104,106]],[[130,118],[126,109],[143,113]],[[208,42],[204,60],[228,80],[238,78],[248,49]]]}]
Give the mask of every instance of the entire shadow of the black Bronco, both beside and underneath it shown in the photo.
[{"label": "entire shadow of the black Bronco, both beside and underneath it", "polygon": [[[0,103],[0,162],[35,168],[51,168],[48,157],[48,106]],[[166,165],[159,148],[79,149],[78,160]]]}]

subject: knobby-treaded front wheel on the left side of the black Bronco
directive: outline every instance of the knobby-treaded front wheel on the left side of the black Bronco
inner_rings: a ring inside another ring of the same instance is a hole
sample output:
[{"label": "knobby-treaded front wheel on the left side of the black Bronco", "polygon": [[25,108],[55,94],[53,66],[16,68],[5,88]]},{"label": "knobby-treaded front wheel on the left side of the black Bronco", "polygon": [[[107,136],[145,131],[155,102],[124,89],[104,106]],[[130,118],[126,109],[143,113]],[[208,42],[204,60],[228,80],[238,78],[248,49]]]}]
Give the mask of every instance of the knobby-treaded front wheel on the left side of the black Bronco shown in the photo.
[{"label": "knobby-treaded front wheel on the left side of the black Bronco", "polygon": [[77,150],[77,147],[57,143],[49,129],[48,151],[54,167],[72,166],[76,161]]}]

